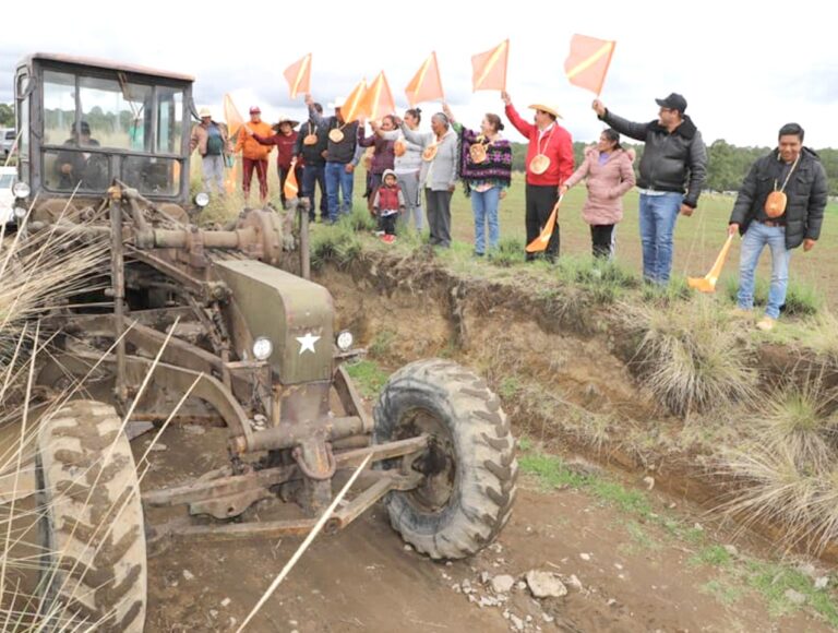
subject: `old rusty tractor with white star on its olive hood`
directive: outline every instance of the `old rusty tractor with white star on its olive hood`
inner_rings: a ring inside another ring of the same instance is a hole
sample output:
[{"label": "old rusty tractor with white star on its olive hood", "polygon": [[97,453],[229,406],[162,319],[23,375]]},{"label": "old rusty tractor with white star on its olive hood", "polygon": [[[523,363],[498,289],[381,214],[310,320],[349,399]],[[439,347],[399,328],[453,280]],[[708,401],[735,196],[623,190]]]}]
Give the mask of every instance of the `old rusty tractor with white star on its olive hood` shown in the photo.
[{"label": "old rusty tractor with white star on its olive hood", "polygon": [[[496,537],[516,492],[510,422],[468,369],[412,362],[368,413],[344,367],[358,351],[351,335],[335,332],[332,297],[309,279],[302,207],[294,223],[271,208],[246,208],[225,227],[193,222],[192,84],[43,53],[15,76],[20,230],[110,250],[106,287],[46,316],[61,335],[38,372],[44,393],[86,380],[97,399],[62,405],[40,426],[36,456],[41,610],[60,604],[104,630],[143,630],[146,547],[306,534],[368,456],[327,534],[383,500],[419,552],[468,557]],[[280,267],[288,261],[301,274]],[[160,427],[172,411],[172,423],[225,426],[229,463],[140,490],[125,431]],[[300,510],[244,519],[271,498]],[[176,518],[149,521],[177,506]]]}]

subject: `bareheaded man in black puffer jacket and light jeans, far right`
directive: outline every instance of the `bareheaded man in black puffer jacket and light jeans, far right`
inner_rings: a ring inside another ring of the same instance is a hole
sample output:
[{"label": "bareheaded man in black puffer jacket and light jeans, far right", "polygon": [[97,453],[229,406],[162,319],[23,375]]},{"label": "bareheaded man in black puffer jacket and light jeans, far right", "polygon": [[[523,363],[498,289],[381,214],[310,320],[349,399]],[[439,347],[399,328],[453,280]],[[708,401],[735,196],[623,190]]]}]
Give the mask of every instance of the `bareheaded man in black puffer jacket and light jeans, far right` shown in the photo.
[{"label": "bareheaded man in black puffer jacket and light jeans, far right", "polygon": [[741,315],[754,308],[756,264],[763,249],[771,249],[771,286],[759,330],[774,329],[786,303],[791,249],[801,243],[806,252],[814,248],[826,201],[826,171],[817,154],[803,146],[803,128],[783,126],[777,150],[754,163],[742,182],[728,226],[731,235],[743,236],[737,297]]}]

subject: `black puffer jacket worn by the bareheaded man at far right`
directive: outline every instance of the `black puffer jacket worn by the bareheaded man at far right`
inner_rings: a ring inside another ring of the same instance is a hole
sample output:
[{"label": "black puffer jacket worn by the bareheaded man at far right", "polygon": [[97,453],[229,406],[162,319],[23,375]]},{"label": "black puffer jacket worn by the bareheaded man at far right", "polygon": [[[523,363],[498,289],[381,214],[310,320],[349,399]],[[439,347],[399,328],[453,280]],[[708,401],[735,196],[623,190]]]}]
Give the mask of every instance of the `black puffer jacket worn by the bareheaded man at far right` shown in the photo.
[{"label": "black puffer jacket worn by the bareheaded man at far right", "polygon": [[[774,191],[774,182],[779,179],[781,170],[782,160],[777,150],[751,167],[730,214],[730,223],[739,225],[740,234],[744,235],[765,206],[765,199]],[[817,154],[809,147],[803,147],[800,163],[786,186],[786,213],[778,218],[786,222],[786,248],[794,249],[804,239],[816,240],[821,237],[827,201],[826,171]]]}]

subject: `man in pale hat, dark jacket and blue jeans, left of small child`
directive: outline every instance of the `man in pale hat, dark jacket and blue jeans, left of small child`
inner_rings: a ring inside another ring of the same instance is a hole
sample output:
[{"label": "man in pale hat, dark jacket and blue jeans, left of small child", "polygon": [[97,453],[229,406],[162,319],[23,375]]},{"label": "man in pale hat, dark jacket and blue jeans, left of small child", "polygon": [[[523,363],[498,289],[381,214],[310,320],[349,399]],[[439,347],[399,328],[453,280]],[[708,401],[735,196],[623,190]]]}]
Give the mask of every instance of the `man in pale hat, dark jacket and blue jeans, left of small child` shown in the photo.
[{"label": "man in pale hat, dark jacket and blue jeans, left of small child", "polygon": [[[314,99],[306,95],[309,117],[318,126],[328,130],[328,146],[326,147],[326,198],[328,198],[328,222],[335,223],[339,215],[352,211],[352,188],[355,184],[355,168],[361,159],[358,151],[358,121],[347,123],[344,120],[342,107],[344,98],[339,97],[328,104],[334,108],[333,117],[323,117],[314,109]],[[338,204],[338,193],[343,200]]]}]

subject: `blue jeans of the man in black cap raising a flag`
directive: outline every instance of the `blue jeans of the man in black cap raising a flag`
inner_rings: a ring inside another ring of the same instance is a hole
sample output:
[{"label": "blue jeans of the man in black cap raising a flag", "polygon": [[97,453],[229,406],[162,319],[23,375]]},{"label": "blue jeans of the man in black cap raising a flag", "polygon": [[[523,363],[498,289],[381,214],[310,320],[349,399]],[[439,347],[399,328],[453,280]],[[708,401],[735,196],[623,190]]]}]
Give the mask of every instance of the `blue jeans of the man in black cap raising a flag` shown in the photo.
[{"label": "blue jeans of the man in black cap raising a flag", "polygon": [[684,196],[681,193],[641,193],[641,242],[643,278],[667,284],[672,271],[672,234]]}]

